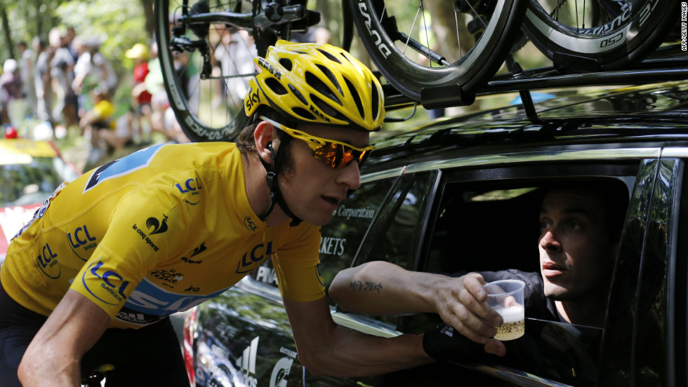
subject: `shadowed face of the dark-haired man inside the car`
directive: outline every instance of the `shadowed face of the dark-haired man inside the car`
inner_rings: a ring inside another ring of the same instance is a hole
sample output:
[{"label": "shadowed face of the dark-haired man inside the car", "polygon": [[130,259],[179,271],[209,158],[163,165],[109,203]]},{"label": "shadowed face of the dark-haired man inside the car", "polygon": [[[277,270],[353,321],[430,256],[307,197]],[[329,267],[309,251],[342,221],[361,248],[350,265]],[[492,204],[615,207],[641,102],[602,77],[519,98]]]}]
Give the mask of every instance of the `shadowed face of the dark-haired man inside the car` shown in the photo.
[{"label": "shadowed face of the dark-haired man inside the car", "polygon": [[540,211],[540,271],[545,296],[558,301],[604,297],[616,244],[604,225],[599,196],[583,190],[550,191]]}]

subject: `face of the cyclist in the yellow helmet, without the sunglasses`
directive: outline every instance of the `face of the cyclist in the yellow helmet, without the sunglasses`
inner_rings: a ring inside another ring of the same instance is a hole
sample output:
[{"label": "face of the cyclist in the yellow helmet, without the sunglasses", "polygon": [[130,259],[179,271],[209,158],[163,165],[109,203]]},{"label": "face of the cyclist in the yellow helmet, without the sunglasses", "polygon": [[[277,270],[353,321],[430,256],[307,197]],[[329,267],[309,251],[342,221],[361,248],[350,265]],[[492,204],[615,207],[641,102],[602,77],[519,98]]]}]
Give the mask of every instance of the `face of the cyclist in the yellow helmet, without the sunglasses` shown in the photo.
[{"label": "face of the cyclist in the yellow helmet, without the sunglasses", "polygon": [[[331,128],[325,125],[299,125],[299,130],[327,140],[336,140],[354,147],[366,147],[369,134],[357,130]],[[280,190],[289,209],[304,222],[322,226],[339,208],[349,189],[361,186],[358,163],[352,161],[343,168],[331,168],[312,156],[305,142],[291,139],[289,158],[282,174]]]}]

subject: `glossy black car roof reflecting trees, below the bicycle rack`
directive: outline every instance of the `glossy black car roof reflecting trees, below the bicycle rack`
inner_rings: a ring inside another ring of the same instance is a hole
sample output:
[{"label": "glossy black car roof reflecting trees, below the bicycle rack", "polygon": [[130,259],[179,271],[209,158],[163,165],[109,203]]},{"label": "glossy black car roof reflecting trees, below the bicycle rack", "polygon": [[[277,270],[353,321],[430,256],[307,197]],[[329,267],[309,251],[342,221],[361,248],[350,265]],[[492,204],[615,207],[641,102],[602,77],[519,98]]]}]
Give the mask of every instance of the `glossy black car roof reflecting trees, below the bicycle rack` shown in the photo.
[{"label": "glossy black car roof reflecting trees, below the bicycle rack", "polygon": [[535,119],[527,116],[519,98],[506,107],[376,134],[366,169],[376,169],[380,161],[389,167],[395,161],[478,147],[688,140],[686,81],[532,95],[541,99]]}]

